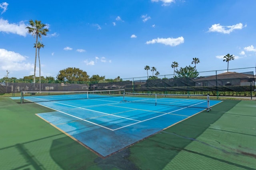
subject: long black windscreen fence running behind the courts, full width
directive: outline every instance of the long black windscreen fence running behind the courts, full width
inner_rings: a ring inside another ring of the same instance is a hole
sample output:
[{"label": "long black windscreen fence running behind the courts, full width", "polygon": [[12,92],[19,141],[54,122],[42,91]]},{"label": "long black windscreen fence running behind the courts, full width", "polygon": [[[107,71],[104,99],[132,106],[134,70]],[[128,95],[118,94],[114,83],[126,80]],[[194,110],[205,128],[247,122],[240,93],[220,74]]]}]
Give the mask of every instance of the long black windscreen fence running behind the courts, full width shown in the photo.
[{"label": "long black windscreen fence running behind the courts, full width", "polygon": [[[215,73],[215,72],[213,72]],[[255,75],[250,72],[222,72],[210,76],[182,77],[158,76],[147,78],[122,79],[119,82],[60,82],[32,80],[0,80],[0,93],[31,92],[62,92],[62,91],[92,91],[125,89],[126,92],[248,92],[255,89]],[[135,79],[135,80],[134,80]]]}]

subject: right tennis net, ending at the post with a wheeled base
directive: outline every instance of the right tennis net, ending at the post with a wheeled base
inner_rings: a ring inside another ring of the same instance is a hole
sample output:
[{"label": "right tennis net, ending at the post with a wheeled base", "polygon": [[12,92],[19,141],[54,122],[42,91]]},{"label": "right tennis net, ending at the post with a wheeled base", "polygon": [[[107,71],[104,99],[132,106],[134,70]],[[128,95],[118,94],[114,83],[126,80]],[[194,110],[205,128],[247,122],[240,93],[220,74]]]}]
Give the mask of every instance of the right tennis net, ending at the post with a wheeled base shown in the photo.
[{"label": "right tennis net, ending at the post with a wheeled base", "polygon": [[194,94],[147,94],[124,93],[124,102],[166,105],[176,107],[193,107],[211,110],[210,96]]}]

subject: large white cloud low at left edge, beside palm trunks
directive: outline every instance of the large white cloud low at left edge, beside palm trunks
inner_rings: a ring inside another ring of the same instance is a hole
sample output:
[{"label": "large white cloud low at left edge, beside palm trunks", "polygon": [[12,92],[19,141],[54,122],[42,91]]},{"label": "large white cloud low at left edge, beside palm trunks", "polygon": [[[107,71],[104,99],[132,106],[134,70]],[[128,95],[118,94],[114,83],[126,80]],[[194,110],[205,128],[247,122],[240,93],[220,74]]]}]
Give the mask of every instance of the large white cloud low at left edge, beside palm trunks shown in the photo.
[{"label": "large white cloud low at left edge, beside palm trunks", "polygon": [[26,58],[14,51],[0,49],[0,70],[20,71],[34,68],[34,64],[26,63]]}]

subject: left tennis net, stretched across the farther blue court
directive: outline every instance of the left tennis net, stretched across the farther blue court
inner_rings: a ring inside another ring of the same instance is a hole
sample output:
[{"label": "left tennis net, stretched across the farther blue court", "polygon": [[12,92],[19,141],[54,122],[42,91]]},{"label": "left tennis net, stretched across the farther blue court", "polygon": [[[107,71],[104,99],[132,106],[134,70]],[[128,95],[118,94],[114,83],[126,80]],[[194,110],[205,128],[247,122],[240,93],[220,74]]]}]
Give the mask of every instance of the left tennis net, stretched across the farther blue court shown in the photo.
[{"label": "left tennis net, stretched across the farther blue court", "polygon": [[76,92],[21,92],[20,103],[79,100],[90,98],[124,97],[124,89]]}]

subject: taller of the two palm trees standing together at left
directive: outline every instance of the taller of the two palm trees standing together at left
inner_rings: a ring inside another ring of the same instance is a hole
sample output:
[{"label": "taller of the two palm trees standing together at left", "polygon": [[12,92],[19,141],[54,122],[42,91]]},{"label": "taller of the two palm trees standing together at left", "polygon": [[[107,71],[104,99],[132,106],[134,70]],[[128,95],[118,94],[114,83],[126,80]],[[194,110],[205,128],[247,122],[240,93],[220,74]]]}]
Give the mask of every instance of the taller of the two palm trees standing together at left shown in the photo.
[{"label": "taller of the two palm trees standing together at left", "polygon": [[[46,25],[44,23],[41,23],[41,21],[33,20],[29,21],[31,27],[26,27],[28,29],[28,33],[32,33],[34,37],[36,37],[36,57],[37,57],[37,45],[38,45],[38,37],[42,41],[42,35],[46,35],[46,32],[49,30],[47,28],[44,28]],[[36,57],[35,57],[35,66],[34,66],[34,83],[36,83]]]}]

